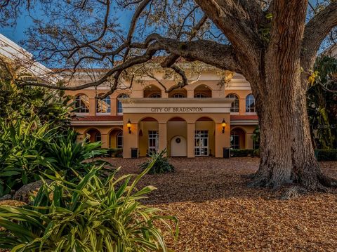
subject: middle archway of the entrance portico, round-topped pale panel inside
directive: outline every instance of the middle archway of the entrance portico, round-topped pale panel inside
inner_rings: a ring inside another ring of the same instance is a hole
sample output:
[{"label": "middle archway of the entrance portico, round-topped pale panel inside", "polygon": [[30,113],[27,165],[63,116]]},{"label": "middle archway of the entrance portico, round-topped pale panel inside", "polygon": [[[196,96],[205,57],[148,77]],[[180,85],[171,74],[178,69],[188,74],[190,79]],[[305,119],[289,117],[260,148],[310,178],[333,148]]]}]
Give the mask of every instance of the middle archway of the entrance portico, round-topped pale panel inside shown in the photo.
[{"label": "middle archway of the entrance portico, round-topped pale panel inside", "polygon": [[167,146],[171,157],[187,157],[187,121],[173,117],[167,121]]}]

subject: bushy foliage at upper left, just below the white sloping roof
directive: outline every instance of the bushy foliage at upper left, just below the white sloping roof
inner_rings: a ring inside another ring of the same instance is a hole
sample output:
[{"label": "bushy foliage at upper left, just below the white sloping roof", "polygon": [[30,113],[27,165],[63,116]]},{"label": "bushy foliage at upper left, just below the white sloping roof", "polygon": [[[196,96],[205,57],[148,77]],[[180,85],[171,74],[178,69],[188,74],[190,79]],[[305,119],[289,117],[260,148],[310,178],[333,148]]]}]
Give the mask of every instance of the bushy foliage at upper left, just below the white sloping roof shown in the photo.
[{"label": "bushy foliage at upper left, just below the white sloping roof", "polygon": [[36,121],[38,126],[53,124],[59,131],[70,126],[73,102],[60,91],[19,86],[13,64],[0,58],[0,117],[5,121]]}]

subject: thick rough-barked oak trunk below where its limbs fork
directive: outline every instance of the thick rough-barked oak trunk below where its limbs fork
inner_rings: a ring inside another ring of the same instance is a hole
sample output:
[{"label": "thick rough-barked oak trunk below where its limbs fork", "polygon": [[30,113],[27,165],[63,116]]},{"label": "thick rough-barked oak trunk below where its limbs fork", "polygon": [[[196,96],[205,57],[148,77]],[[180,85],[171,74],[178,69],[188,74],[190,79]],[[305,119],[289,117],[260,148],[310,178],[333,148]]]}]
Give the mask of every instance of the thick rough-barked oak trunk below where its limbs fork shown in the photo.
[{"label": "thick rough-barked oak trunk below where its limbs fork", "polygon": [[270,81],[274,92],[257,101],[261,159],[253,184],[278,188],[296,183],[319,189],[321,171],[312,147],[300,79],[286,86],[278,79]]}]

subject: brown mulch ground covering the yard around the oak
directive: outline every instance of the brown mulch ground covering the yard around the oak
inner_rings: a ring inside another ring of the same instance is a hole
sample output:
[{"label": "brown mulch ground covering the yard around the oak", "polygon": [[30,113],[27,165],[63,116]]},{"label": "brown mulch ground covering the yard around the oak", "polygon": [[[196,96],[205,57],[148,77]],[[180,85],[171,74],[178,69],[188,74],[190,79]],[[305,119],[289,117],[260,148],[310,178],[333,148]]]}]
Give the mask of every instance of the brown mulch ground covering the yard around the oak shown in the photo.
[{"label": "brown mulch ground covering the yard around the oak", "polygon": [[[176,173],[145,175],[154,185],[146,204],[176,215],[175,251],[337,251],[337,190],[280,200],[276,192],[246,187],[257,158],[170,159]],[[121,173],[139,173],[145,159],[110,159]],[[337,162],[322,162],[337,178]]]}]

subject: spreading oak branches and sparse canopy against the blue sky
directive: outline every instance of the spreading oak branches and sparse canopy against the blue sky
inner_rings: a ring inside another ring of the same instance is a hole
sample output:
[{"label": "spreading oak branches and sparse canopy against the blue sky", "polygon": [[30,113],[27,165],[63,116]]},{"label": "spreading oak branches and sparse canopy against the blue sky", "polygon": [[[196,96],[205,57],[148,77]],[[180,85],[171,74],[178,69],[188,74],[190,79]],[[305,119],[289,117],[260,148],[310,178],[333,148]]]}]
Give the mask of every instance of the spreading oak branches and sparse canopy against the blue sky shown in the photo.
[{"label": "spreading oak branches and sparse canopy against the blue sky", "polygon": [[[131,85],[134,65],[148,62],[157,55],[165,56],[161,67],[180,75],[180,86],[188,84],[183,69],[176,64],[180,57],[239,72],[249,79],[251,73],[246,73],[242,65],[257,65],[261,48],[272,48],[280,43],[275,39],[282,32],[282,27],[277,27],[275,22],[282,18],[277,17],[280,8],[296,8],[295,15],[306,22],[300,44],[304,72],[310,74],[322,41],[329,34],[331,39],[336,37],[333,27],[337,24],[337,3],[334,0],[1,2],[2,25],[15,25],[22,12],[29,13],[34,20],[25,42],[29,51],[37,55],[37,60],[57,66],[60,71],[109,69],[90,83],[61,87],[63,89],[109,84],[112,93],[121,81]],[[300,9],[305,11],[301,14]],[[251,55],[251,50],[256,53]]]}]

